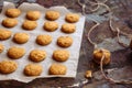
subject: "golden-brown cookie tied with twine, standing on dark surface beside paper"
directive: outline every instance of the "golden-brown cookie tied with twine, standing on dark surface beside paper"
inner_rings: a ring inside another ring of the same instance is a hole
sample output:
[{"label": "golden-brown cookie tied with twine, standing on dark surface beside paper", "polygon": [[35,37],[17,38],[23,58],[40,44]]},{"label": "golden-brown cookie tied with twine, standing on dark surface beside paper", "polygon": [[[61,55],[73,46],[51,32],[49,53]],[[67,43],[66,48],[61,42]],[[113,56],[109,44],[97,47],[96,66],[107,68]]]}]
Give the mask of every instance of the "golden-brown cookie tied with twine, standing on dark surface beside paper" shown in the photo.
[{"label": "golden-brown cookie tied with twine, standing on dark surface beside paper", "polygon": [[110,52],[108,50],[95,50],[94,51],[94,62],[100,64],[102,55],[105,54],[105,59],[102,62],[103,65],[108,65],[110,63]]}]

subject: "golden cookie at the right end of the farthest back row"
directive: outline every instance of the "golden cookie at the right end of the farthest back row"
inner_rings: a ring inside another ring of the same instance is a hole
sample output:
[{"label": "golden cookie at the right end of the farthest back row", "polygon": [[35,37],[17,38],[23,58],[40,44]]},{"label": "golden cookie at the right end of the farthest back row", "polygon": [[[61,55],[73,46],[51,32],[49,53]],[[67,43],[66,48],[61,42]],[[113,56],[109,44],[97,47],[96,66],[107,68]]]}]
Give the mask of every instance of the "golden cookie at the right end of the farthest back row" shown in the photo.
[{"label": "golden cookie at the right end of the farthest back row", "polygon": [[69,23],[75,23],[79,21],[79,15],[76,13],[67,13],[65,20]]}]

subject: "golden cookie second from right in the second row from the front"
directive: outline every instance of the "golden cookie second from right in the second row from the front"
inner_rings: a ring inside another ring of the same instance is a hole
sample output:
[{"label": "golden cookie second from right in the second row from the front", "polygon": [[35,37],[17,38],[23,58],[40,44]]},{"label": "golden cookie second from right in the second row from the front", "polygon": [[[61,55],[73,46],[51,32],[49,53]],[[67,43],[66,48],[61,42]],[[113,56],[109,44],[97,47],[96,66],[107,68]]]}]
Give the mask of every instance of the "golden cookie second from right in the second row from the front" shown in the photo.
[{"label": "golden cookie second from right in the second row from the front", "polygon": [[30,59],[33,62],[42,62],[46,58],[46,52],[42,50],[33,50],[30,53]]}]

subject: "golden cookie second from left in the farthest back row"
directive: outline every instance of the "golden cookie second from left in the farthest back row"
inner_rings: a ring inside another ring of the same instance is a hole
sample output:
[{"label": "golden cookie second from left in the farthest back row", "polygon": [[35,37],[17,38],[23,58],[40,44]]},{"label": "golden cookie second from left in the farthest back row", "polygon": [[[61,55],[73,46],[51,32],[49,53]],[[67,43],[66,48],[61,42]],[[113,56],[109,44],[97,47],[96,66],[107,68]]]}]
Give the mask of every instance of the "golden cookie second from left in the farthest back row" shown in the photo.
[{"label": "golden cookie second from left in the farthest back row", "polygon": [[41,12],[40,11],[29,11],[26,13],[26,19],[35,21],[38,20],[41,16]]}]

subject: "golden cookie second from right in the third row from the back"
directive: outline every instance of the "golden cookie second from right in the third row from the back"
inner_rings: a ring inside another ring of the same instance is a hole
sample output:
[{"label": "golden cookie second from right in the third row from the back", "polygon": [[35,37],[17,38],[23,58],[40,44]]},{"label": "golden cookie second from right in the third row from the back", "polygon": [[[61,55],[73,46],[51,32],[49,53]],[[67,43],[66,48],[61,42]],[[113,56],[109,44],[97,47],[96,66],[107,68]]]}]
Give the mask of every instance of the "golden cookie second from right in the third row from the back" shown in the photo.
[{"label": "golden cookie second from right in the third row from the back", "polygon": [[52,42],[51,35],[43,34],[43,35],[38,35],[36,37],[36,43],[40,45],[43,45],[43,46],[48,45],[51,42]]}]

